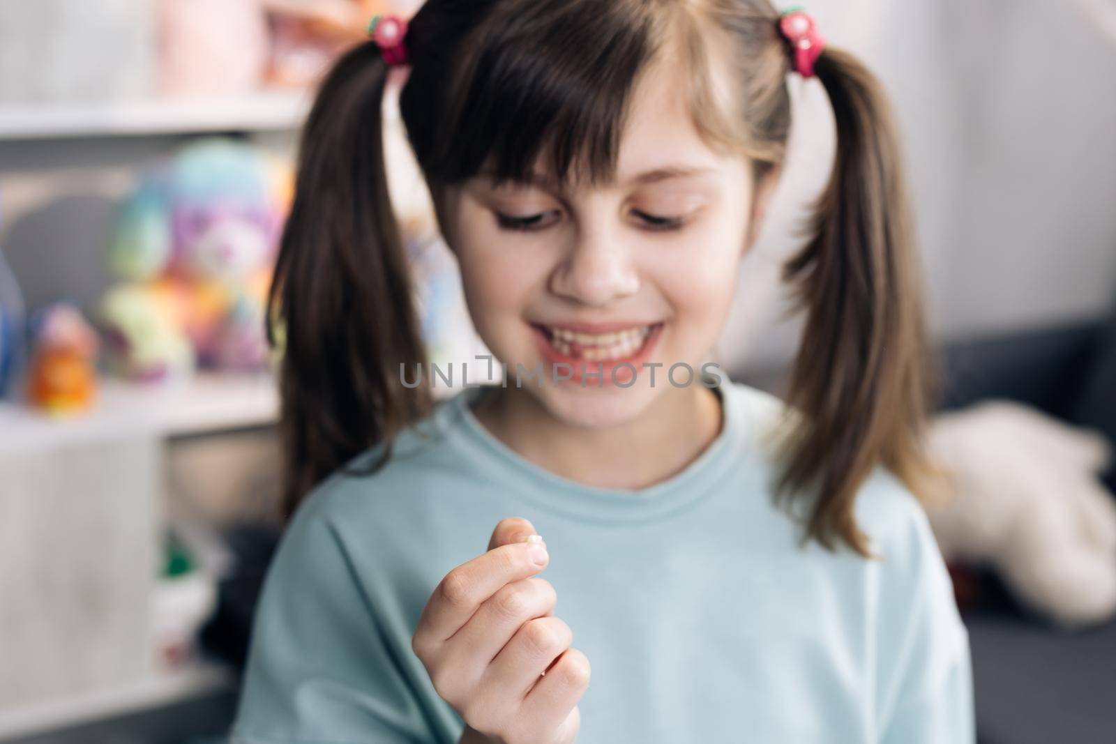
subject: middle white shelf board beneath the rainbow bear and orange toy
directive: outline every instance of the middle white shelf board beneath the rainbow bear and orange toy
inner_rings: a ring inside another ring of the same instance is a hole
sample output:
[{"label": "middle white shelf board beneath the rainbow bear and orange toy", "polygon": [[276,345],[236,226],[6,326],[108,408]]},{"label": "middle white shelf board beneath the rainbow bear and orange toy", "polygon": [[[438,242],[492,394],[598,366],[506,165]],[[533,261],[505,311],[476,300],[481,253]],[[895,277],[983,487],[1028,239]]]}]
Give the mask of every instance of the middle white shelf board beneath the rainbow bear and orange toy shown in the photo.
[{"label": "middle white shelf board beneath the rainbow bear and orange toy", "polygon": [[71,417],[0,404],[0,452],[88,444],[137,432],[183,436],[262,426],[277,421],[278,413],[269,375],[202,374],[165,386],[102,378],[93,408]]}]

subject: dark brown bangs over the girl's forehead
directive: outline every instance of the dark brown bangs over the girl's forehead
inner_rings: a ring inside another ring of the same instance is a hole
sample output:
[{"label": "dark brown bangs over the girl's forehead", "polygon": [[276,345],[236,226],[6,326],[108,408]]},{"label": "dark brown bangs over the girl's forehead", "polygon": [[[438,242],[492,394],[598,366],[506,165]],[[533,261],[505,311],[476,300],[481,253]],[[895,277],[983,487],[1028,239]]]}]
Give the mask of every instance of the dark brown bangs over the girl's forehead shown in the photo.
[{"label": "dark brown bangs over the girl's forehead", "polygon": [[463,45],[477,52],[432,123],[427,175],[452,184],[483,170],[497,184],[530,183],[541,162],[562,186],[610,183],[633,89],[660,36],[652,3],[507,4]]}]

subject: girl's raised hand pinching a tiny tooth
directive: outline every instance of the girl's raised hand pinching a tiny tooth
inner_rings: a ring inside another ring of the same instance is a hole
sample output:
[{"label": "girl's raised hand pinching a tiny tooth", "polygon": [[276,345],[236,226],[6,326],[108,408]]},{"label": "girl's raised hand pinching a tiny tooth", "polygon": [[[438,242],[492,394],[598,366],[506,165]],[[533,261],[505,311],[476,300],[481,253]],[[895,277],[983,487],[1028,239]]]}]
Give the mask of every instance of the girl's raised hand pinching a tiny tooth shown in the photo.
[{"label": "girl's raised hand pinching a tiny tooth", "polygon": [[411,647],[434,689],[465,721],[462,744],[569,744],[589,660],[554,617],[554,587],[535,578],[546,545],[535,528],[501,520],[489,550],[445,574],[419,618]]}]

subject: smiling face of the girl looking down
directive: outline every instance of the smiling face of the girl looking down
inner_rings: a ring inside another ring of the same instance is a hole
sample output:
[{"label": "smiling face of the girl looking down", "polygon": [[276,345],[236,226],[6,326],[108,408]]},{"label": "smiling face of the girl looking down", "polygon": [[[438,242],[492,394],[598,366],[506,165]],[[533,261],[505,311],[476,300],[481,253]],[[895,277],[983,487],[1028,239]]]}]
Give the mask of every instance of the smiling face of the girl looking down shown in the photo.
[{"label": "smiling face of the girl looking down", "polygon": [[[616,426],[664,394],[699,389],[749,241],[750,162],[703,143],[681,77],[644,80],[615,184],[562,193],[538,171],[529,186],[481,175],[435,199],[473,323],[507,364],[508,386],[518,371],[571,425]],[[541,385],[527,376],[540,364]]]}]

